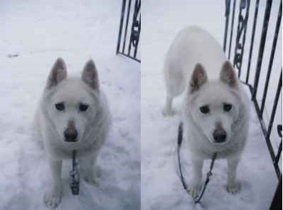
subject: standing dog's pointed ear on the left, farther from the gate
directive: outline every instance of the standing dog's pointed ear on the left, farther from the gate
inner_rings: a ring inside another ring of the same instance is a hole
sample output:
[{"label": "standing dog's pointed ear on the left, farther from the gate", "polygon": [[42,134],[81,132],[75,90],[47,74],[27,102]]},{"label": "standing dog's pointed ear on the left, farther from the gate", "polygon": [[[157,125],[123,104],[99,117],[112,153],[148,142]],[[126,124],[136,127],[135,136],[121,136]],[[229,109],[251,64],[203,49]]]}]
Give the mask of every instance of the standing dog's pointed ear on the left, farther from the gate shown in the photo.
[{"label": "standing dog's pointed ear on the left, farther from the gate", "polygon": [[197,63],[193,70],[193,74],[191,75],[190,92],[193,93],[196,90],[199,90],[201,86],[205,84],[207,81],[208,81],[208,76],[206,75],[203,65]]}]

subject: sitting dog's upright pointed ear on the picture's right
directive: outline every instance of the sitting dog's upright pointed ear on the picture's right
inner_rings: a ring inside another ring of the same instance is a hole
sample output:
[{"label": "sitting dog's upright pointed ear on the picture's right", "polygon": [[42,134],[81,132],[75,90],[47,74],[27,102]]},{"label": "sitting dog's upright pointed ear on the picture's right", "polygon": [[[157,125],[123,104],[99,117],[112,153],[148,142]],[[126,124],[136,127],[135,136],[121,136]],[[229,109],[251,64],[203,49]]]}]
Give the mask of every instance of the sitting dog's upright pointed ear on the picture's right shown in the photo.
[{"label": "sitting dog's upright pointed ear on the picture's right", "polygon": [[85,68],[82,70],[82,80],[95,90],[99,89],[98,73],[95,67],[95,62],[92,60],[85,63]]}]

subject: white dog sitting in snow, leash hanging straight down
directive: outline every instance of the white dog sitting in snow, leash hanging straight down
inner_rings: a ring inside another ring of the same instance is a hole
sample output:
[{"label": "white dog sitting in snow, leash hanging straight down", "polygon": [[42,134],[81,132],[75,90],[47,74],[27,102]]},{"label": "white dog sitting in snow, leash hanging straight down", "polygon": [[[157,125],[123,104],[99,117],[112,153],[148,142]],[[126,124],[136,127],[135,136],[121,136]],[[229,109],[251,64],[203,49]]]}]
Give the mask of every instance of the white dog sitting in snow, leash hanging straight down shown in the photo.
[{"label": "white dog sitting in snow, leash hanging straight down", "polygon": [[62,196],[61,167],[73,149],[87,164],[84,179],[96,184],[94,164],[110,128],[110,112],[100,90],[97,69],[88,61],[81,78],[67,78],[67,68],[58,58],[51,69],[36,115],[43,137],[53,183],[45,196],[46,206],[55,208]]}]

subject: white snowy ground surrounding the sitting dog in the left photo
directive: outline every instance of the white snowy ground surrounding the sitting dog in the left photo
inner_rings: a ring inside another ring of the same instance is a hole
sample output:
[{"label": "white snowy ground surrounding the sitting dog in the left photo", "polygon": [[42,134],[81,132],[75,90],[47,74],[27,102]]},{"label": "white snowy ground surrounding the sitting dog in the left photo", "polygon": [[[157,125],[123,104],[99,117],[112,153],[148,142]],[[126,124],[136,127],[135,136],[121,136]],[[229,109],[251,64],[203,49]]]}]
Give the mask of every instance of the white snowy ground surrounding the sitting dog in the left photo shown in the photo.
[{"label": "white snowy ground surrounding the sitting dog in the left photo", "polygon": [[81,181],[73,196],[64,162],[58,209],[139,209],[140,64],[114,55],[120,11],[120,1],[1,1],[0,209],[47,209],[50,172],[33,115],[58,56],[77,76],[94,59],[113,119],[97,159],[100,187]]}]

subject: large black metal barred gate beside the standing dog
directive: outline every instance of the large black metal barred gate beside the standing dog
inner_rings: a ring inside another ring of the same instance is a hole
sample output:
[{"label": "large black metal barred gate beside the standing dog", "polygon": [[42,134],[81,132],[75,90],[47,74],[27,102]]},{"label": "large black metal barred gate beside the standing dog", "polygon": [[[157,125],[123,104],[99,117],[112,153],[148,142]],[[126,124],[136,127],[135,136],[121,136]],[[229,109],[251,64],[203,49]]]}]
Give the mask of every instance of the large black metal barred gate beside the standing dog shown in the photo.
[{"label": "large black metal barred gate beside the standing dog", "polygon": [[[231,3],[232,0],[225,0],[223,50],[242,83],[250,89],[279,179],[270,209],[282,209],[282,57],[279,53],[282,46],[277,46],[282,30],[282,0],[233,0]],[[259,10],[264,14],[262,20],[259,20],[262,18],[258,16]]]}]

